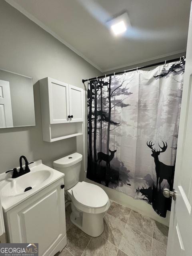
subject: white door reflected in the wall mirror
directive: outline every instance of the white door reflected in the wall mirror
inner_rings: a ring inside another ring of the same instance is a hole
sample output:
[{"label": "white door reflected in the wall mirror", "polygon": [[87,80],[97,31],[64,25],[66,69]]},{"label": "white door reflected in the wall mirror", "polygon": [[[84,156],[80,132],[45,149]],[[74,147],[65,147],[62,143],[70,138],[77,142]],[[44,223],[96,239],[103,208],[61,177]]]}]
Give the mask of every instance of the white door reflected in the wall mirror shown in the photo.
[{"label": "white door reflected in the wall mirror", "polygon": [[11,94],[8,81],[0,80],[0,128],[13,127]]}]

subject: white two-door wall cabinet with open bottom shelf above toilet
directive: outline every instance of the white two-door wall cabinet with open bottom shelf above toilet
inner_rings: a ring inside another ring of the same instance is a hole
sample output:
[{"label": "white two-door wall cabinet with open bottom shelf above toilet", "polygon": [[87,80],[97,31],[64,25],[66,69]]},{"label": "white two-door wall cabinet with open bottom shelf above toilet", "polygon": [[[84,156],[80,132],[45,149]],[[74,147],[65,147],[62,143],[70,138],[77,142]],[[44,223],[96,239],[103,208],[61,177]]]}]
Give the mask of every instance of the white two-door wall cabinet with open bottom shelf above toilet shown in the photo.
[{"label": "white two-door wall cabinet with open bottom shelf above toilet", "polygon": [[40,80],[40,98],[44,141],[82,135],[84,91],[81,88],[47,77]]}]

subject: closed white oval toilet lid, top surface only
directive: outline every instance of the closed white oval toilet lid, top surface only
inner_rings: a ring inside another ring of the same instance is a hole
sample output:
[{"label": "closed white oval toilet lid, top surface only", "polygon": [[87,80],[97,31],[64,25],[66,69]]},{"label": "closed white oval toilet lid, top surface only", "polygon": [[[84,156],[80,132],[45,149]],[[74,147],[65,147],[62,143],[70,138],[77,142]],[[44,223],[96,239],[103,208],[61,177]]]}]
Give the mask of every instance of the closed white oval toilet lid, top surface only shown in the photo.
[{"label": "closed white oval toilet lid, top surface only", "polygon": [[102,188],[88,182],[79,182],[72,190],[76,201],[86,207],[99,208],[108,202],[108,195]]}]

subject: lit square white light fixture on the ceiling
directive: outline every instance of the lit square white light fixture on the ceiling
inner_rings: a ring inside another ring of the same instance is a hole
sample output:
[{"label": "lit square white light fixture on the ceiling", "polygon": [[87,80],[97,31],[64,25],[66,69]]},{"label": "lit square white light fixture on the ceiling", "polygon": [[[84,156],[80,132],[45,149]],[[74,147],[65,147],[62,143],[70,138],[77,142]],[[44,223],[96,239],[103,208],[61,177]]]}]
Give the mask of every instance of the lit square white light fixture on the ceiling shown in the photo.
[{"label": "lit square white light fixture on the ceiling", "polygon": [[114,16],[107,21],[107,25],[115,36],[123,34],[131,26],[127,12]]}]

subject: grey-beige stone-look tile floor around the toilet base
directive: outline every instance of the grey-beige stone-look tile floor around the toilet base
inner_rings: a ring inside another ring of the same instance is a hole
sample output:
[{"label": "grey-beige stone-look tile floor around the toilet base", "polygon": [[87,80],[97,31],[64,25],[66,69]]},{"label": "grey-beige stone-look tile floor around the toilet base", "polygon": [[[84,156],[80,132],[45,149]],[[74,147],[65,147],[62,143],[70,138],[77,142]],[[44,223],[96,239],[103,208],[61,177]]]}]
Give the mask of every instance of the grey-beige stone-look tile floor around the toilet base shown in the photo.
[{"label": "grey-beige stone-look tile floor around the toilet base", "polygon": [[112,202],[104,232],[92,238],[70,222],[66,208],[67,245],[59,256],[166,256],[168,227]]}]

